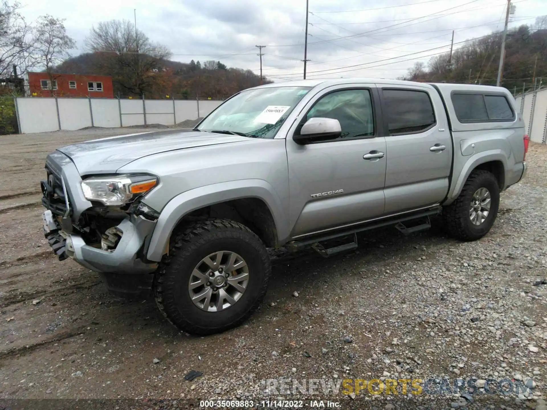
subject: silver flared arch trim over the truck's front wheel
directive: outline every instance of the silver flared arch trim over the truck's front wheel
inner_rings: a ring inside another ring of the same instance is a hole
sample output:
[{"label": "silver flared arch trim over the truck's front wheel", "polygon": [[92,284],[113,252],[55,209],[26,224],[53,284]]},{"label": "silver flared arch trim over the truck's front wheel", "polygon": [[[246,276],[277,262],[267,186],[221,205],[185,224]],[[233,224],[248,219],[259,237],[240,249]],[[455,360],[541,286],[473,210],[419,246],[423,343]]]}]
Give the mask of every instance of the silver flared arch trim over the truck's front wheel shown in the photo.
[{"label": "silver flared arch trim over the truck's front wheel", "polygon": [[[240,198],[259,198],[264,201],[274,218],[279,239],[288,237],[289,229],[283,217],[283,206],[274,188],[263,179],[241,179],[200,186],[177,195],[162,209],[148,247],[147,258],[160,261],[167,241],[184,215],[216,203]],[[146,200],[143,201],[146,204]]]}]

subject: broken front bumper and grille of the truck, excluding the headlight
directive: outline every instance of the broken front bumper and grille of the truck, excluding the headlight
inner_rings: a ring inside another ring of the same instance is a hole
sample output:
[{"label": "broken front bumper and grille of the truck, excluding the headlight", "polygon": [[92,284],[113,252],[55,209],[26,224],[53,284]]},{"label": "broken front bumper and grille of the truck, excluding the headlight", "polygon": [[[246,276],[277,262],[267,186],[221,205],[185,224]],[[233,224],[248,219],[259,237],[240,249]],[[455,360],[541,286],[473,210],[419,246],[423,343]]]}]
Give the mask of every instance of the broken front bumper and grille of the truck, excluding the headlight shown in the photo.
[{"label": "broken front bumper and grille of the truck, excluding the headlight", "polygon": [[63,154],[55,153],[48,156],[46,168],[48,180],[41,184],[42,203],[46,208],[42,214],[43,230],[57,257],[60,260],[71,257],[80,265],[98,272],[115,295],[148,294],[152,289],[152,273],[158,267],[157,262],[146,259],[146,250],[156,225],[154,218],[142,213],[128,213],[115,226],[118,241],[104,249],[101,243],[89,241],[81,225],[74,225],[81,221],[80,215],[88,212],[92,204],[80,192],[81,179],[73,164],[66,161]]}]

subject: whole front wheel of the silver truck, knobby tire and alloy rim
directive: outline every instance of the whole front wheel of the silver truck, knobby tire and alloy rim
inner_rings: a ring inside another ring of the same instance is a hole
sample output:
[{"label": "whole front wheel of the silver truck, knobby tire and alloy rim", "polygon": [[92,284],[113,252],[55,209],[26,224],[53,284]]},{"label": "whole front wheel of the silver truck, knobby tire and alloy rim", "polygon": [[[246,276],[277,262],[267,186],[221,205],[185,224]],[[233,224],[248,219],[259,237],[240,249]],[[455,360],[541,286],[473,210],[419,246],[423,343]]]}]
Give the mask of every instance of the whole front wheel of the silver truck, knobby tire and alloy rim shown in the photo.
[{"label": "whole front wheel of the silver truck, knobby tire and alloy rim", "polygon": [[156,273],[156,304],[185,332],[222,332],[258,308],[270,272],[266,248],[251,230],[231,220],[206,220],[173,233]]}]

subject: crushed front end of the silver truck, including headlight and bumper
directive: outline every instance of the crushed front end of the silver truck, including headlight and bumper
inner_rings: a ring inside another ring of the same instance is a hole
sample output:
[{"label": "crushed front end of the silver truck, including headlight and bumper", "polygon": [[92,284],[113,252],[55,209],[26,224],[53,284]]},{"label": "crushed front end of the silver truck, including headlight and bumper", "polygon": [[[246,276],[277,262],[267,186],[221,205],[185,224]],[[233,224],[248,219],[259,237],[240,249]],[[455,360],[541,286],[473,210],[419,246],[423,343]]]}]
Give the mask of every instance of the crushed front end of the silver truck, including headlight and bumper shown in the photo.
[{"label": "crushed front end of the silver truck, including headlight and bumper", "polygon": [[146,251],[159,214],[140,199],[158,179],[101,175],[82,180],[60,151],[48,156],[45,168],[40,182],[44,236],[59,260],[71,257],[100,273],[115,295],[149,294],[158,264],[146,259]]}]

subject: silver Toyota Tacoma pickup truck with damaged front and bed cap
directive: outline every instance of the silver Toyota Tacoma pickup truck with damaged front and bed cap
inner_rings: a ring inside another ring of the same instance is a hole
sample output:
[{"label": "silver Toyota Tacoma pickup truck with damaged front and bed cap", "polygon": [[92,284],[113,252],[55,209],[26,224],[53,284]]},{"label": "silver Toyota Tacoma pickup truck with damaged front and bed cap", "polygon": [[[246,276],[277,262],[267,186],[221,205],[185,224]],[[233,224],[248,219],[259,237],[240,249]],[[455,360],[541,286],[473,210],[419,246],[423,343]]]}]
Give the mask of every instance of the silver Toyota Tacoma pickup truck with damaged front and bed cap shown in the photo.
[{"label": "silver Toyota Tacoma pickup truck with damaged front and bed cap", "polygon": [[[227,99],[194,130],[59,148],[41,183],[59,259],[117,295],[153,292],[179,329],[246,320],[271,272],[267,248],[357,247],[441,215],[463,241],[491,229],[499,193],[526,173],[528,136],[501,87],[378,79],[268,84]],[[330,246],[336,239],[336,246]]]}]

